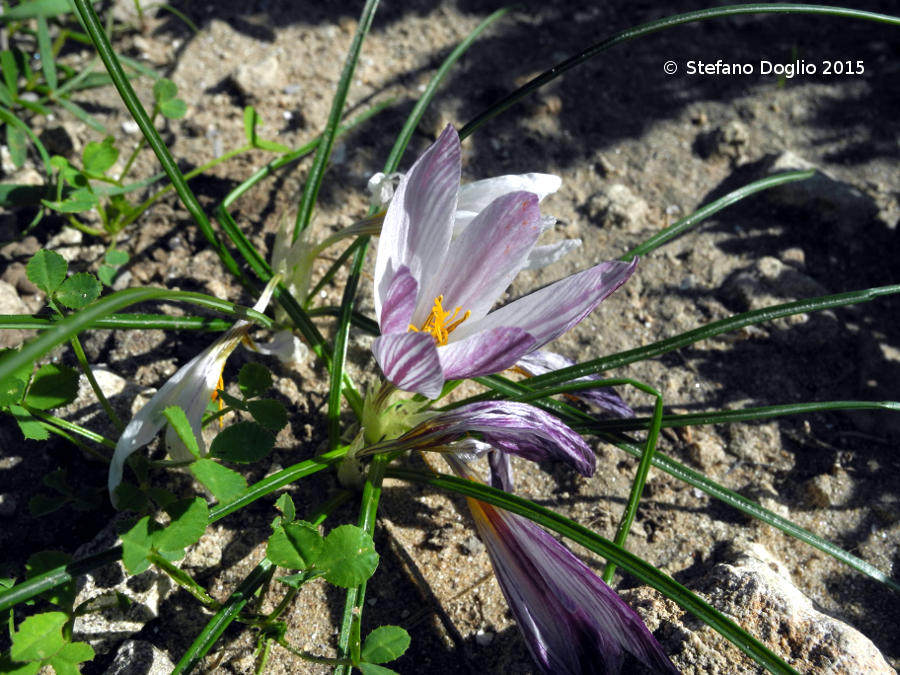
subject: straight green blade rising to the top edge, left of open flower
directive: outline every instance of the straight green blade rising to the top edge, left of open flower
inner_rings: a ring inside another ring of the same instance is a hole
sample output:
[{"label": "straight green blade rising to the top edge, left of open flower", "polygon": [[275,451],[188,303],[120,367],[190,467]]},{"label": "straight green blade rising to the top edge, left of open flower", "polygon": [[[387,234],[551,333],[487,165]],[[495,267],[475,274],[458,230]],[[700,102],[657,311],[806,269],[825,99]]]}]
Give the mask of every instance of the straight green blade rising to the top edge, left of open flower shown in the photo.
[{"label": "straight green blade rising to the top edge, left of open flower", "polygon": [[334,98],[331,100],[331,111],[328,113],[325,129],[322,131],[319,146],[316,148],[316,156],[313,158],[313,164],[309,169],[306,185],[303,187],[303,195],[297,208],[297,220],[294,224],[293,238],[295,240],[300,232],[306,229],[312,219],[313,208],[315,208],[316,199],[319,196],[319,188],[322,185],[322,179],[325,177],[325,168],[329,157],[331,157],[335,136],[337,136],[338,123],[343,115],[344,103],[347,101],[347,92],[350,91],[353,72],[356,70],[356,63],[359,61],[359,52],[362,49],[362,43],[369,29],[372,27],[372,19],[375,18],[375,9],[377,7],[378,0],[366,0],[365,7],[363,7],[362,14],[359,17],[356,34],[353,36],[350,51],[347,53],[347,58],[344,61],[341,79],[338,80],[337,90],[334,93]]}]

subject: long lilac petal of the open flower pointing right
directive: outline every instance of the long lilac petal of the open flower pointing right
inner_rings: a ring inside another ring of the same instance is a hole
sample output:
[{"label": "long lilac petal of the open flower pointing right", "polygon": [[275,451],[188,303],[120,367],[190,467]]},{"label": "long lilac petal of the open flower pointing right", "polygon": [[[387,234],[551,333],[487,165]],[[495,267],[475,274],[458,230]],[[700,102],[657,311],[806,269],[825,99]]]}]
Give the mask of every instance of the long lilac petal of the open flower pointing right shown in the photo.
[{"label": "long lilac petal of the open flower pointing right", "polygon": [[634,273],[631,263],[605,262],[573,274],[491,312],[480,321],[456,329],[455,339],[498,326],[518,326],[531,333],[540,347],[572,328]]}]

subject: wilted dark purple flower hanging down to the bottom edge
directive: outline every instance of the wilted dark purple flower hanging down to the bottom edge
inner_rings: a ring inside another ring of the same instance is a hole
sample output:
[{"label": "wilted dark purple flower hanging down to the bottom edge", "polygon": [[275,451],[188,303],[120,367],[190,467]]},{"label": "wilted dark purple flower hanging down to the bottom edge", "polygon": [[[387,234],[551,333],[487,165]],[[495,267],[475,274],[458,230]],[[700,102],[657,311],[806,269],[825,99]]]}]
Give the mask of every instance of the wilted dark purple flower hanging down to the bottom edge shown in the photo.
[{"label": "wilted dark purple flower hanging down to the bottom edge", "polygon": [[468,502],[503,595],[544,672],[619,673],[629,652],[654,673],[677,675],[637,613],[565,546],[526,518]]}]

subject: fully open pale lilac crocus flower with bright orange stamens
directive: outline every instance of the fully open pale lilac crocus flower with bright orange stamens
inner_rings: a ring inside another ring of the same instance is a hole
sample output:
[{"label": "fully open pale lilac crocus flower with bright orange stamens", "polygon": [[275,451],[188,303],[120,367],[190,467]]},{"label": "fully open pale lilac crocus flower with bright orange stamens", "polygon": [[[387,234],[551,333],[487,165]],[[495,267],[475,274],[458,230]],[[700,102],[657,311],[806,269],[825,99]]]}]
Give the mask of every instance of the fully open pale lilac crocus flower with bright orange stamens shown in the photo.
[{"label": "fully open pale lilac crocus flower with bright orange stamens", "polygon": [[494,199],[454,239],[460,172],[448,126],[400,181],[375,262],[375,358],[390,382],[428,398],[445,380],[499,372],[559,337],[637,265],[601,263],[490,312],[541,233],[538,196]]}]

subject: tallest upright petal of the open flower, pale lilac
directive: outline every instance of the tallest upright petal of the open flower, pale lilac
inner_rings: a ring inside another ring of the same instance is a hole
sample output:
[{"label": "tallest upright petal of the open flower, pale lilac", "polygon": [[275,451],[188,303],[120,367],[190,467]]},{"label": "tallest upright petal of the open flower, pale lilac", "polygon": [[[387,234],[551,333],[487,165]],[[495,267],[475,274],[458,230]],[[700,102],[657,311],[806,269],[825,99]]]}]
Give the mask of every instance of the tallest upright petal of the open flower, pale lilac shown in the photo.
[{"label": "tallest upright petal of the open flower, pale lilac", "polygon": [[440,268],[453,233],[460,172],[459,136],[448,125],[400,181],[385,213],[375,260],[379,318],[401,266],[409,268],[420,287]]}]

